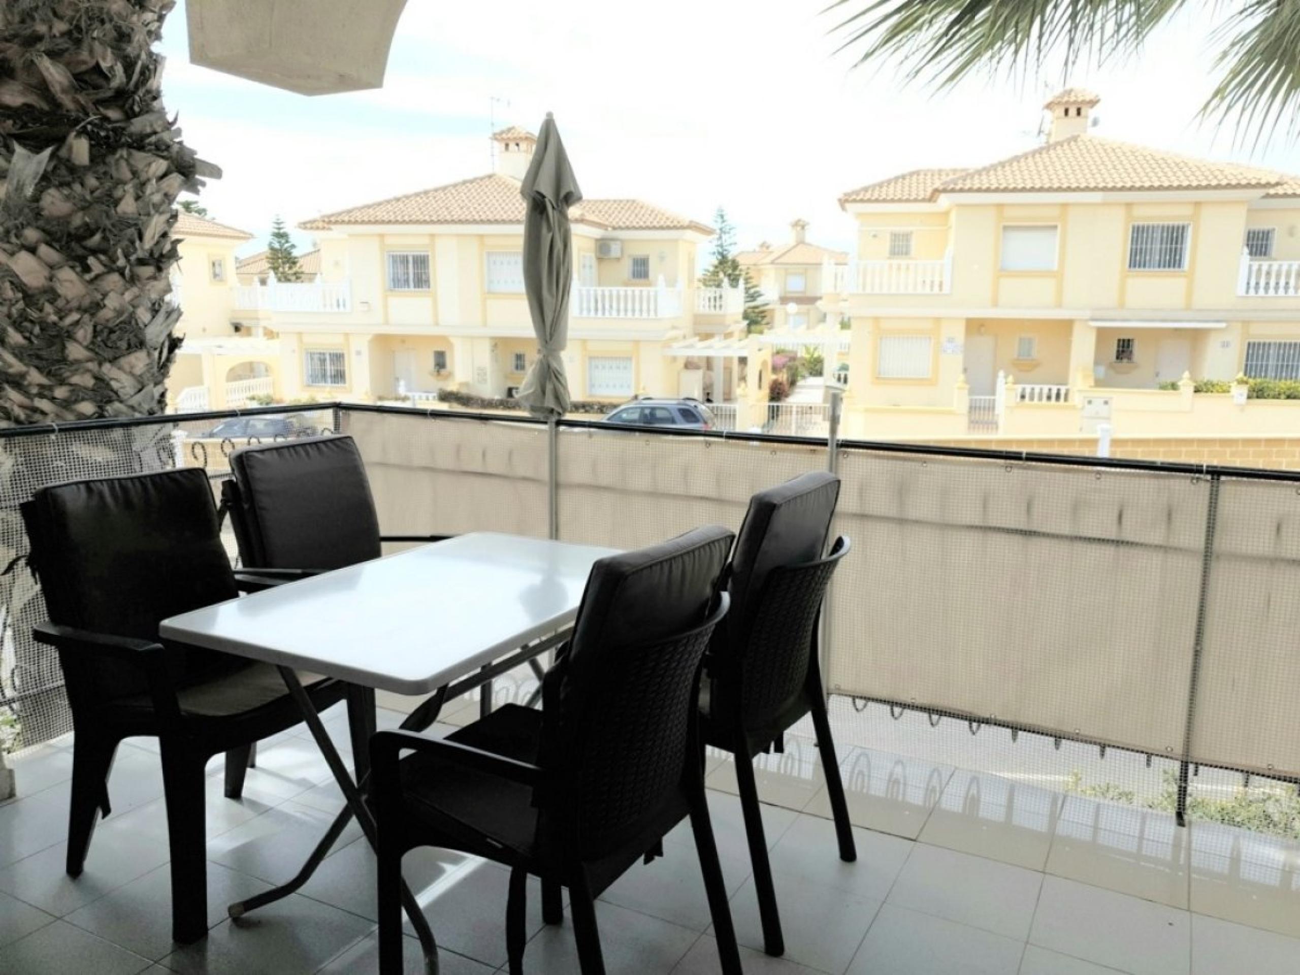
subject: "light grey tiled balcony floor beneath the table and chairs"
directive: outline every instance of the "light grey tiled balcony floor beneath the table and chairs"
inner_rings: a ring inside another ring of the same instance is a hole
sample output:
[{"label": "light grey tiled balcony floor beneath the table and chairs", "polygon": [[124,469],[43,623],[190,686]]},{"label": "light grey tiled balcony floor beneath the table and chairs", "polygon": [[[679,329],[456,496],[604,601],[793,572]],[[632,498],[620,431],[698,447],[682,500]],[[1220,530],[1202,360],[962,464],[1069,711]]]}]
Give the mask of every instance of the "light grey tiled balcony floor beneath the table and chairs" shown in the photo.
[{"label": "light grey tiled balcony floor beneath the table and chairs", "polygon": [[[452,712],[451,720],[460,715]],[[342,715],[329,716],[346,737]],[[400,715],[382,711],[381,724]],[[208,801],[212,931],[169,930],[162,783],[153,750],[121,749],[113,815],[86,872],[62,872],[70,742],[17,763],[0,805],[0,972],[367,972],[376,970],[373,859],[354,826],[303,893],[234,923],[225,905],[286,879],[341,802],[306,729],[261,749],[244,798]],[[803,742],[806,745],[806,742]],[[836,855],[809,748],[763,760],[759,788],[786,954],[768,958],[734,775],[708,785],[745,970],[764,975],[1231,975],[1300,972],[1300,844],[1062,796],[989,775],[845,749],[858,862]],[[221,763],[211,767],[218,776]],[[716,953],[689,829],[634,867],[598,910],[611,972],[714,972]],[[407,858],[447,975],[499,970],[507,874],[439,850]],[[577,971],[572,932],[545,928],[533,888],[525,971]],[[419,970],[408,941],[407,971]]]}]

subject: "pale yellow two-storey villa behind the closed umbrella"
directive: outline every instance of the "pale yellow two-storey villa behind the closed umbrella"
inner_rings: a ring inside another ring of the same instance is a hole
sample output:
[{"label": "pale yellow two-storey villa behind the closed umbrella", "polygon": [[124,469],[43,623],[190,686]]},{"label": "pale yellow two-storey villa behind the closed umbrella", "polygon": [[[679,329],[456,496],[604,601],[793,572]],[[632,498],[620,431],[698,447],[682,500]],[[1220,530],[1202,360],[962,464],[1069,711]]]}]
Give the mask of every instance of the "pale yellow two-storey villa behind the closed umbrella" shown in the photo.
[{"label": "pale yellow two-storey villa behind the closed umbrella", "polygon": [[[240,264],[233,313],[276,334],[286,399],[515,393],[537,346],[519,194],[536,138],[511,127],[493,139],[490,174],[302,224],[318,243],[311,281],[268,281],[260,255]],[[764,348],[745,337],[744,289],[696,283],[712,228],[636,199],[584,200],[571,218],[575,399],[759,395]]]}]

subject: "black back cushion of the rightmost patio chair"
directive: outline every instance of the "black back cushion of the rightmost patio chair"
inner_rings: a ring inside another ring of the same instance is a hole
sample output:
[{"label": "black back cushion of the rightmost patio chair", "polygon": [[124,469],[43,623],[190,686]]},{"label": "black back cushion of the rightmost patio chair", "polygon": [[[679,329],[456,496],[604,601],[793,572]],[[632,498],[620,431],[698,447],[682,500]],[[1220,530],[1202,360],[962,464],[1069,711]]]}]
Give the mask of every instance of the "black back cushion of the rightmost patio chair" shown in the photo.
[{"label": "black back cushion of the rightmost patio chair", "polygon": [[744,638],[774,568],[822,558],[838,498],[840,478],[812,471],[750,499],[732,555],[732,607],[719,633]]}]

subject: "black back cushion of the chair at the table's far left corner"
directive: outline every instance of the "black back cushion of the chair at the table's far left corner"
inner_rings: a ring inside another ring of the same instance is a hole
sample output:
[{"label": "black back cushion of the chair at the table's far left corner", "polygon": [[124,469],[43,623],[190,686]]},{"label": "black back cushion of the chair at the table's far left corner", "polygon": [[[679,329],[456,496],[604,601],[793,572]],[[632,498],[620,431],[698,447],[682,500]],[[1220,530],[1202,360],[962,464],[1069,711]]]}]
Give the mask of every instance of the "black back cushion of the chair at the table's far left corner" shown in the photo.
[{"label": "black back cushion of the chair at the table's far left corner", "polygon": [[244,566],[335,569],[381,555],[380,520],[351,437],[312,437],[230,455]]}]

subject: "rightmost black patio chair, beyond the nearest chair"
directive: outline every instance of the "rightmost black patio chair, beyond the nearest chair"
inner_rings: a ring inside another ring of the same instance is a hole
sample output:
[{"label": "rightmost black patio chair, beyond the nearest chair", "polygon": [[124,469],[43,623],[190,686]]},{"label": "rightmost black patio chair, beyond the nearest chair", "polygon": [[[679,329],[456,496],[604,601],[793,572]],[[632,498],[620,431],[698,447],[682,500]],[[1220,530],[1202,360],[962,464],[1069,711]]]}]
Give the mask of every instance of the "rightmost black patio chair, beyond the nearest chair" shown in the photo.
[{"label": "rightmost black patio chair, beyond the nearest chair", "polygon": [[823,558],[838,495],[838,477],[814,472],[750,499],[729,566],[732,610],[714,634],[701,693],[705,742],[736,757],[768,954],[784,954],[785,941],[753,759],[772,748],[781,750],[785,731],[806,714],[812,715],[826,771],[840,859],[852,862],[858,855],[818,662],[822,598],[849,552],[849,540],[841,537]]}]

